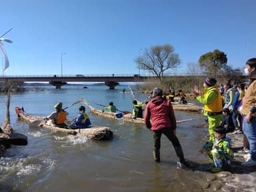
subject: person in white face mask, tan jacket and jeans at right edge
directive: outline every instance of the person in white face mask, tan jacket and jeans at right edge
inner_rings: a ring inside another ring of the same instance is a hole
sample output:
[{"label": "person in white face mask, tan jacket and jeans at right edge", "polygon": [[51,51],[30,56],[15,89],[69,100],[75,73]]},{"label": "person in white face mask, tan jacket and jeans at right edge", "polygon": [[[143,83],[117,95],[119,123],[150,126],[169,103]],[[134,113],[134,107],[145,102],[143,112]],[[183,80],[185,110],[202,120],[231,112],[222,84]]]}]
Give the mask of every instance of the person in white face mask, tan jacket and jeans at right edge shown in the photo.
[{"label": "person in white face mask, tan jacket and jeans at right edge", "polygon": [[243,131],[249,142],[251,158],[242,165],[256,165],[256,58],[249,59],[245,63],[245,75],[249,77],[250,85],[245,91],[243,100]]}]

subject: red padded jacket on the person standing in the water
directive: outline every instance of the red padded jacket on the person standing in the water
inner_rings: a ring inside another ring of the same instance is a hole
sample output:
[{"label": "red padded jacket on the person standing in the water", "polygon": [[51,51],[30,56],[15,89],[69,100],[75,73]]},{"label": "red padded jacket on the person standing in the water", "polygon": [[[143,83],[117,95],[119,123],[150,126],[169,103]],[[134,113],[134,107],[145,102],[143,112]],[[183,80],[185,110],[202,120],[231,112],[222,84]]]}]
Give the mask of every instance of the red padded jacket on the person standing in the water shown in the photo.
[{"label": "red padded jacket on the person standing in the water", "polygon": [[145,109],[144,122],[152,131],[166,127],[176,129],[176,118],[171,102],[161,96],[153,97]]}]

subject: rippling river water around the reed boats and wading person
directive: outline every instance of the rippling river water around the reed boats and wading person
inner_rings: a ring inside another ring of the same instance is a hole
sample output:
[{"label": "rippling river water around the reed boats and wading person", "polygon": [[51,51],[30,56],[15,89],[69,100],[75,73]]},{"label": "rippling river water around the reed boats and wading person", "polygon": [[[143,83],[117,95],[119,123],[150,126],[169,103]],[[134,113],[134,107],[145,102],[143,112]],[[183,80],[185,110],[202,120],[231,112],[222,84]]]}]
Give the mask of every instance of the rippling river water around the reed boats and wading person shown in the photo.
[{"label": "rippling river water around the reed boats and wading person", "polygon": [[[11,125],[18,133],[28,137],[27,146],[13,146],[0,159],[0,191],[200,191],[197,181],[206,177],[206,171],[177,169],[173,145],[163,135],[161,163],[153,161],[153,137],[145,125],[125,123],[98,117],[89,113],[93,125],[113,130],[111,141],[91,141],[84,137],[53,133],[48,129],[29,127],[19,121],[15,106],[24,107],[27,113],[46,117],[53,105],[61,101],[69,106],[83,97],[94,107],[113,101],[121,111],[132,110],[133,97],[121,93],[127,86],[118,85],[109,90],[105,86],[63,86],[61,90],[25,91],[12,93]],[[139,101],[147,95],[135,92]],[[5,119],[6,95],[0,95],[0,119]],[[79,104],[69,107],[69,118],[77,116]],[[201,113],[175,111],[177,119],[193,118],[178,124],[177,136],[185,157],[191,162],[209,163],[199,149],[207,134]],[[200,166],[199,166],[200,167]],[[191,187],[192,186],[192,187]]]}]

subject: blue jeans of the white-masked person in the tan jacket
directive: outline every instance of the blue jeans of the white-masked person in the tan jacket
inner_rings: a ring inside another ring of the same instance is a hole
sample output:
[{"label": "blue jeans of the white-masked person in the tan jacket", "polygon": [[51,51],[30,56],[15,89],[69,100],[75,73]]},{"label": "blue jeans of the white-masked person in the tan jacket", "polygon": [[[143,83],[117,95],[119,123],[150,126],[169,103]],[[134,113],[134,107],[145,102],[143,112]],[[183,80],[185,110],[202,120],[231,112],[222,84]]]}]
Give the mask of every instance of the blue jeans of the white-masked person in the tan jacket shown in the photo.
[{"label": "blue jeans of the white-masked person in the tan jacket", "polygon": [[251,117],[250,123],[245,121],[245,116],[243,117],[243,132],[249,143],[251,159],[256,161],[256,117]]}]

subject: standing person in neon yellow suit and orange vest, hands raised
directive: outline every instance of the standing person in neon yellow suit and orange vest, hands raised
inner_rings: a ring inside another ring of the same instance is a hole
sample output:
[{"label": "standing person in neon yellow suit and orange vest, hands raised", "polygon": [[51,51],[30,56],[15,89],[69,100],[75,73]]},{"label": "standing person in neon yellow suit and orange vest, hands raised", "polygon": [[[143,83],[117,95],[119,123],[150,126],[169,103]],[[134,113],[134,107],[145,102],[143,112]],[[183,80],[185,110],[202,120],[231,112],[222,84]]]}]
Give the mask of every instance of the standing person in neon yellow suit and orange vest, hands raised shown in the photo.
[{"label": "standing person in neon yellow suit and orange vest, hands raised", "polygon": [[215,141],[214,128],[219,126],[223,119],[221,93],[216,83],[216,79],[206,78],[203,83],[203,93],[198,90],[193,91],[197,100],[205,105],[203,115],[208,117],[209,141]]}]

